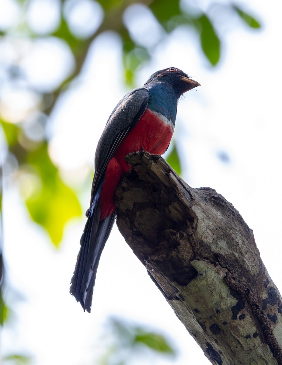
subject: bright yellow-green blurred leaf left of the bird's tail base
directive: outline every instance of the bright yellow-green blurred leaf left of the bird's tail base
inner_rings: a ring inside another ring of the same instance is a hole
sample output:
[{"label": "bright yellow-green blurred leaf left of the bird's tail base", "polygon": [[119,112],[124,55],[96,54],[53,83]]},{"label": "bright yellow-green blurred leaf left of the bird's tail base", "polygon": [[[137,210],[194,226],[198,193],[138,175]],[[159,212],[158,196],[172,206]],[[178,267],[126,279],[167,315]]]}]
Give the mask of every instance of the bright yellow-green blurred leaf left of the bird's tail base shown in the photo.
[{"label": "bright yellow-green blurred leaf left of the bird's tail base", "polygon": [[81,215],[81,207],[75,193],[61,180],[58,169],[47,153],[47,143],[27,156],[27,162],[38,173],[41,186],[27,197],[26,205],[31,218],[46,228],[52,242],[58,246],[65,223]]}]

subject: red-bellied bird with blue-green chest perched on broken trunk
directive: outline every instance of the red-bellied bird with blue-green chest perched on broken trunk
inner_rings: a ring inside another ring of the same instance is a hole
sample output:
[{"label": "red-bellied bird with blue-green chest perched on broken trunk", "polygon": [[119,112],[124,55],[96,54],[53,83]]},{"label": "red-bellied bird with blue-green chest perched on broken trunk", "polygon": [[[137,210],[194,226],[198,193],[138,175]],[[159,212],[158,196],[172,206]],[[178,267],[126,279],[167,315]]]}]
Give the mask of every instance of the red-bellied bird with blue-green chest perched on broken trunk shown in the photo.
[{"label": "red-bellied bird with blue-green chest perched on broken trunk", "polygon": [[91,311],[100,256],[116,218],[115,189],[130,169],[124,157],[136,151],[163,154],[174,132],[179,97],[198,86],[178,68],[157,71],[127,93],[108,118],[96,148],[90,206],[70,288],[84,311]]}]

